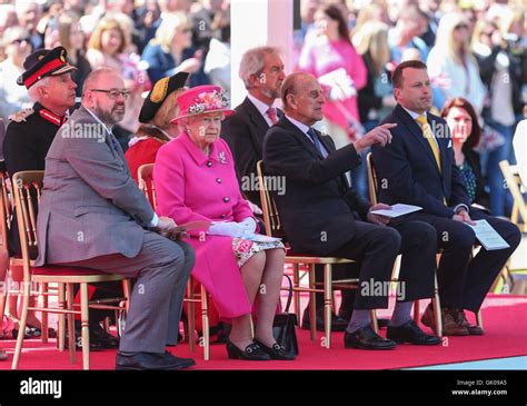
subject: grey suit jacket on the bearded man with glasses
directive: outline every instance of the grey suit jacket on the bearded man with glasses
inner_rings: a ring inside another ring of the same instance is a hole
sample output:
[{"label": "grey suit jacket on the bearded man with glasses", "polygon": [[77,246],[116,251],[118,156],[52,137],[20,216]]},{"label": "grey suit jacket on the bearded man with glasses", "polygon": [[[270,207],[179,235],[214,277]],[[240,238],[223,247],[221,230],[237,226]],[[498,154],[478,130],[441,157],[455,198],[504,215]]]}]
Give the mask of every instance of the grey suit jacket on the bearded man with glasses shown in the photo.
[{"label": "grey suit jacket on the bearded man with glasses", "polygon": [[132,258],[141,249],[153,210],[110,137],[83,107],[57,132],[46,157],[37,266]]}]

